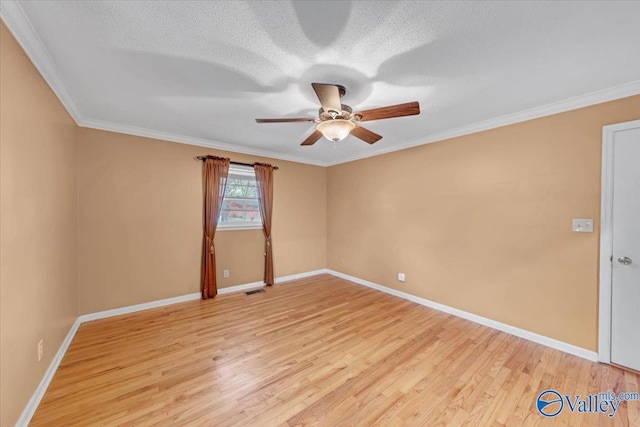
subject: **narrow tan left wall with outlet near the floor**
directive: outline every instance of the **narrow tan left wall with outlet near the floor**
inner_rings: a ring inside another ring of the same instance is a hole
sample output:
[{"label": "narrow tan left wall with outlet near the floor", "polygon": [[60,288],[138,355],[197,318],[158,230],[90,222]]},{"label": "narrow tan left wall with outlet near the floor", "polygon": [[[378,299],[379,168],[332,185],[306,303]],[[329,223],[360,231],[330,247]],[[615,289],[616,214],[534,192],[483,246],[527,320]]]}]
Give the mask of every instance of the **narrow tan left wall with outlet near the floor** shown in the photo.
[{"label": "narrow tan left wall with outlet near the floor", "polygon": [[0,425],[12,426],[78,315],[77,127],[4,23],[0,57]]}]

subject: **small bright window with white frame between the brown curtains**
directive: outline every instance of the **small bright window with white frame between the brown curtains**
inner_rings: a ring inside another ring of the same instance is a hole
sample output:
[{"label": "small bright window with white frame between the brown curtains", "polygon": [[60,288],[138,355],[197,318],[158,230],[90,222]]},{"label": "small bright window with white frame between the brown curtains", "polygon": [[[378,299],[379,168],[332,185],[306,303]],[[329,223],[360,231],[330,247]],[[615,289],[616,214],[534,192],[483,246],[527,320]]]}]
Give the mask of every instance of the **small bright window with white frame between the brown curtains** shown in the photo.
[{"label": "small bright window with white frame between the brown curtains", "polygon": [[218,228],[221,230],[262,228],[258,183],[252,167],[229,166]]}]

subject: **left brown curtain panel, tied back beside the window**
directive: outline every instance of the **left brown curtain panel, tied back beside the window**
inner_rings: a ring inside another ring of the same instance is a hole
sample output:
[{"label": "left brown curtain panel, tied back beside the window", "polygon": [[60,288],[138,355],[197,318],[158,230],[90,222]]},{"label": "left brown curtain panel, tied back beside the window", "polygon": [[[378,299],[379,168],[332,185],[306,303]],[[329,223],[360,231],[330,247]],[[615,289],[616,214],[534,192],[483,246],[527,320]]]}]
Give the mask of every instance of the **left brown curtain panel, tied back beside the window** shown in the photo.
[{"label": "left brown curtain panel, tied back beside the window", "polygon": [[204,161],[204,236],[202,239],[202,299],[218,293],[216,249],[213,238],[220,218],[222,199],[229,175],[229,159],[207,156]]}]

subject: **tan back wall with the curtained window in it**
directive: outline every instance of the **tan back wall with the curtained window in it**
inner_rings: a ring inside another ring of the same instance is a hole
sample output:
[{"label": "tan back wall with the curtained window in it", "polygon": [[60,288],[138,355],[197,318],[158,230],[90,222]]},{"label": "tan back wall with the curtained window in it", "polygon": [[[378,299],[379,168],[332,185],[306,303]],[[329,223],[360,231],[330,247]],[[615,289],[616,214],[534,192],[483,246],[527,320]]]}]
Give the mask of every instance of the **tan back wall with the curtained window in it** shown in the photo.
[{"label": "tan back wall with the curtained window in it", "polygon": [[[93,129],[78,130],[79,307],[92,313],[199,292],[202,164],[267,161],[275,273],[325,267],[326,168]],[[218,231],[218,287],[262,280],[261,230]],[[222,277],[229,269],[230,277]]]}]

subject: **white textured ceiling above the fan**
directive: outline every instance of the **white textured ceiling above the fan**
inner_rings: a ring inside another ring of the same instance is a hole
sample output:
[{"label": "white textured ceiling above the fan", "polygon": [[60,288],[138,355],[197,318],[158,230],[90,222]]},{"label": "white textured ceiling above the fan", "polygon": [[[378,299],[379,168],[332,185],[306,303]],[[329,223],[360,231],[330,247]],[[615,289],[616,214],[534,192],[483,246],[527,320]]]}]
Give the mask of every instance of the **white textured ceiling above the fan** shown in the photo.
[{"label": "white textured ceiling above the fan", "polygon": [[[316,164],[640,92],[633,1],[3,3],[79,124]],[[254,122],[317,116],[311,82],[346,86],[354,110],[422,114],[366,123],[373,146],[300,147],[312,123]]]}]

